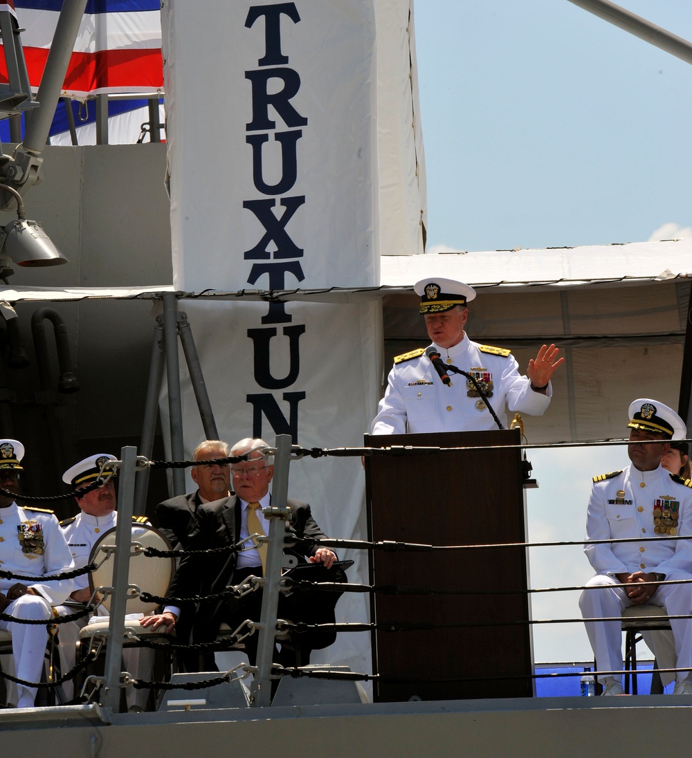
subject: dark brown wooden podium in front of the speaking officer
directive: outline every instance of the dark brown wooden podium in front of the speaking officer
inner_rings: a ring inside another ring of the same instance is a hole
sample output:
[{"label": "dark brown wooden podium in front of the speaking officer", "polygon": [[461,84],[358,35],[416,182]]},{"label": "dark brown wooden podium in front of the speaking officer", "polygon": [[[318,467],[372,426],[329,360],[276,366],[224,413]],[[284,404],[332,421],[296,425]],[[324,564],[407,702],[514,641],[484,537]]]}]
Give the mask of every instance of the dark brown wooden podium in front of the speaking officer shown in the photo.
[{"label": "dark brown wooden podium in front of the speaking officer", "polygon": [[[366,458],[370,539],[437,546],[525,542],[520,443],[517,429],[366,435],[368,447],[467,448]],[[524,548],[374,550],[370,580],[442,590],[371,596],[373,621],[429,627],[373,631],[373,671],[400,680],[376,681],[376,700],[535,694]],[[500,590],[504,594],[490,594]]]}]

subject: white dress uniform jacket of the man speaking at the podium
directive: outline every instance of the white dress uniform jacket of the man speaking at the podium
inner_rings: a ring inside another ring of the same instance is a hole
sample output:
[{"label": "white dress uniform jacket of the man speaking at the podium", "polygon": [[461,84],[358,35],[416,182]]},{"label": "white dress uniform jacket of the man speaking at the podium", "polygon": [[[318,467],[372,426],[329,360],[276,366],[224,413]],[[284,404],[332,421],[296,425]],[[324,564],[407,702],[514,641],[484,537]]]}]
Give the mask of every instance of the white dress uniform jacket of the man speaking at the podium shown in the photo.
[{"label": "white dress uniform jacket of the man speaking at the podium", "polygon": [[[471,342],[468,335],[450,348],[435,345],[442,361],[462,371],[489,374],[492,380],[490,404],[502,425],[507,428],[505,403],[511,412],[543,415],[549,406],[548,394],[533,392],[527,377],[521,376],[514,356],[502,349],[500,354],[486,352],[487,347]],[[485,351],[484,351],[485,349]],[[433,364],[423,353],[416,358],[395,363],[389,372],[385,396],[379,401],[370,434],[420,434],[442,431],[483,431],[496,429],[495,419],[479,397],[468,396],[467,378],[449,374],[451,384],[442,384]]]}]

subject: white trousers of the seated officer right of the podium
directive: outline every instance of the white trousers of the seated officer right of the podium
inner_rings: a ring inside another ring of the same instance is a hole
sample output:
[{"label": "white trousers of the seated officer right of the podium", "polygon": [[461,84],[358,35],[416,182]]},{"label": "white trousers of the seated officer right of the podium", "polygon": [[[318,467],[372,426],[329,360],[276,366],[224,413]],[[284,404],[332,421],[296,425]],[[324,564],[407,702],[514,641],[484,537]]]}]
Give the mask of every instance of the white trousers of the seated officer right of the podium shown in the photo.
[{"label": "white trousers of the seated officer right of the podium", "polygon": [[[692,574],[675,571],[666,575],[670,581],[692,580]],[[619,616],[624,608],[631,606],[616,577],[598,574],[583,590],[579,599],[581,615],[584,619],[604,619],[615,617],[617,621],[585,622],[589,641],[596,656],[599,671],[621,671],[622,669],[622,629]],[[692,584],[664,584],[656,590],[650,600],[652,605],[663,606],[669,615],[689,615],[692,613]],[[692,619],[671,619],[675,641],[675,668],[692,669]],[[599,676],[604,681],[608,675]],[[687,672],[678,673],[678,681],[687,678]]]}]

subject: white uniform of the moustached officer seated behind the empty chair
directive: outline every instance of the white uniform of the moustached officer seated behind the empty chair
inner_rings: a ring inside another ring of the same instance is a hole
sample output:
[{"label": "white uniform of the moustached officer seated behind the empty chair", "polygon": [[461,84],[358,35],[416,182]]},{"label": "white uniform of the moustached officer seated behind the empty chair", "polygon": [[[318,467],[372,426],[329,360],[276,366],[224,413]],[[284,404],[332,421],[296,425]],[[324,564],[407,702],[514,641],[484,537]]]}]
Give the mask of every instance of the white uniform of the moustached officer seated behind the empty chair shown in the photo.
[{"label": "white uniform of the moustached officer seated behind the empty chair", "polygon": [[[94,544],[118,523],[118,512],[113,511],[105,516],[93,516],[89,513],[80,511],[74,520],[63,522],[64,536],[68,540],[74,565],[76,568],[82,568],[89,562],[89,556]],[[132,534],[137,536],[137,525],[133,525]],[[141,530],[140,530],[141,531]],[[80,575],[74,580],[74,590],[81,590],[89,586],[89,578],[86,574]],[[65,613],[74,612],[74,609],[65,608]],[[102,607],[96,610],[96,615],[107,616],[108,612]],[[141,613],[128,613],[125,619],[141,619]],[[79,640],[80,629],[88,622],[85,616],[77,622],[63,624],[60,630],[60,659],[63,673],[69,671],[76,662],[77,641]],[[130,650],[123,650],[123,659],[125,667],[134,678],[150,679],[153,666],[154,651],[144,647],[134,647]],[[71,700],[74,694],[74,684],[72,681],[66,681],[63,685],[65,695]],[[127,706],[139,706],[144,709],[146,701],[149,699],[149,690],[136,690],[128,687],[125,692]]]}]

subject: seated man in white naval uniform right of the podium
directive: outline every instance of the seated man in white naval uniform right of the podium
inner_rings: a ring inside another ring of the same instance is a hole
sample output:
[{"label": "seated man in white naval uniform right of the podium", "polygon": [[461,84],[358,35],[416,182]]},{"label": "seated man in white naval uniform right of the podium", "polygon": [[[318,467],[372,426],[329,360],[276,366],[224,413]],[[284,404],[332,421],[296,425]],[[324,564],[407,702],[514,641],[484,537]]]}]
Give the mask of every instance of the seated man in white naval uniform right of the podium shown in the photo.
[{"label": "seated man in white naval uniform right of the podium", "polygon": [[[587,540],[643,539],[653,541],[587,544],[584,552],[596,569],[579,606],[596,656],[598,671],[622,669],[619,616],[627,606],[653,603],[667,615],[692,612],[692,584],[643,584],[692,580],[692,541],[671,540],[692,534],[692,482],[662,468],[668,440],[684,439],[687,431],[675,411],[658,400],[631,403],[631,465],[593,478],[587,515]],[[653,443],[652,441],[653,440]],[[625,587],[616,585],[624,584]],[[692,619],[670,619],[675,640],[675,668],[692,668]],[[674,694],[692,695],[689,672],[676,675]],[[620,675],[602,675],[604,695],[622,694]]]}]

